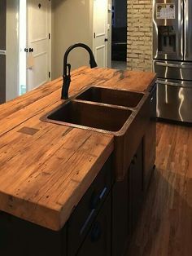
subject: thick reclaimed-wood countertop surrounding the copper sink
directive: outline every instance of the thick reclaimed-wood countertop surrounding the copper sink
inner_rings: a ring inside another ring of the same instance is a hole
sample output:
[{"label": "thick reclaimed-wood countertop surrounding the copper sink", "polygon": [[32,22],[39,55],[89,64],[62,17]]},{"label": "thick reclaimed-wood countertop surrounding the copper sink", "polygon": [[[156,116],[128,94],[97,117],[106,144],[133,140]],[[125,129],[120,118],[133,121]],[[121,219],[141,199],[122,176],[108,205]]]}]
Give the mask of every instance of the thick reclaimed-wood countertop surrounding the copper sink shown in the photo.
[{"label": "thick reclaimed-wood countertop surrounding the copper sink", "polygon": [[[85,86],[144,91],[154,73],[81,67]],[[40,121],[63,103],[62,77],[0,105],[0,210],[59,231],[113,151],[113,136]]]}]

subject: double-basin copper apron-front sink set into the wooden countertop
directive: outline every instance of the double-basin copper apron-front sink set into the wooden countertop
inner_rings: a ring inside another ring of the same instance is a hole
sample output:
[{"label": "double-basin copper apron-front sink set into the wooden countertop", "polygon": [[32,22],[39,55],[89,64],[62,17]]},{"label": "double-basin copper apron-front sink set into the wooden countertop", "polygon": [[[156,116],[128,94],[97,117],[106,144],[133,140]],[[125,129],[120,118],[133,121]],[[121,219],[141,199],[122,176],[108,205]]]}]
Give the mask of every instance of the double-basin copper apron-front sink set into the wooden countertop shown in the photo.
[{"label": "double-basin copper apron-front sink set into the wooden countertop", "polygon": [[124,179],[149,119],[149,93],[91,86],[41,117],[63,126],[114,135],[116,180]]}]

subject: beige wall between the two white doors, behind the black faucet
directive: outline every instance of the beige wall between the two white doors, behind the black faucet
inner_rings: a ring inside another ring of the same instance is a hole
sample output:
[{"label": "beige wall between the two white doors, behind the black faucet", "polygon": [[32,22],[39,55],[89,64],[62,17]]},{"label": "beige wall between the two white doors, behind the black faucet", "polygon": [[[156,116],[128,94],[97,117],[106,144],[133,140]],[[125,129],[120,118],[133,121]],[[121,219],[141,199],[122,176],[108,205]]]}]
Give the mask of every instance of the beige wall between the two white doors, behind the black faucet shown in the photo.
[{"label": "beige wall between the two white doors, behind the black faucet", "polygon": [[[89,0],[52,1],[52,79],[63,74],[63,54],[68,46],[83,42],[92,48],[93,2]],[[84,49],[73,50],[68,58],[72,69],[89,64]]]}]

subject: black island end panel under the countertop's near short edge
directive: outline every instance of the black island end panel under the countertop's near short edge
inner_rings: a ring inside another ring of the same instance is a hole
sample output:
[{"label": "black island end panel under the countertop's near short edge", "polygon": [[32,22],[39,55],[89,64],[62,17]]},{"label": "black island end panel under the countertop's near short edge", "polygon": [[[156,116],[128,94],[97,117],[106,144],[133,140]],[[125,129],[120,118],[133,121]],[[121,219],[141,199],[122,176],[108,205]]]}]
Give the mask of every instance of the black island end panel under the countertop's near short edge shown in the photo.
[{"label": "black island end panel under the countertop's near short edge", "polygon": [[66,256],[67,234],[0,211],[1,256]]}]

